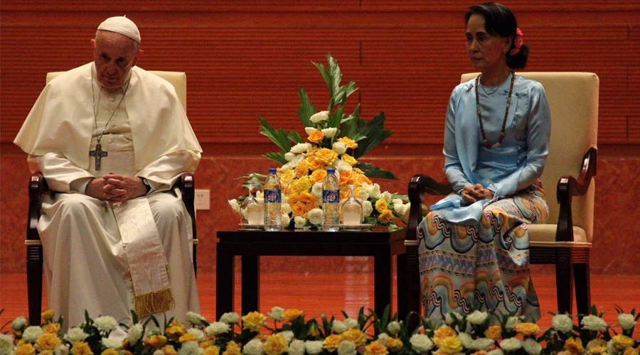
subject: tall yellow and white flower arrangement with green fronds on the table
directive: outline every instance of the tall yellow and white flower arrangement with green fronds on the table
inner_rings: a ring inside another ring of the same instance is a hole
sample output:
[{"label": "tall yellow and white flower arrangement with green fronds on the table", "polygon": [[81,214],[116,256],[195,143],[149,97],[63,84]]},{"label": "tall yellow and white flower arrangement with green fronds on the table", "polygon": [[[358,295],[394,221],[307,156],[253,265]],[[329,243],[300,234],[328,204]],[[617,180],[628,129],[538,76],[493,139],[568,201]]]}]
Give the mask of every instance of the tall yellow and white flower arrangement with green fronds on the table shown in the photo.
[{"label": "tall yellow and white flower arrangement with green fronds on the table", "polygon": [[[378,146],[391,135],[384,129],[385,115],[380,112],[371,121],[359,115],[360,105],[346,114],[347,98],[358,87],[354,82],[341,86],[342,74],[338,62],[327,55],[327,64],[314,63],[329,88],[329,105],[317,111],[309,101],[304,88],[299,89],[300,109],[306,139],[297,131],[287,133],[273,129],[265,119],[260,120],[260,133],[270,138],[282,151],[267,153],[280,168],[277,175],[282,185],[282,224],[293,224],[297,229],[316,229],[322,224],[322,182],[327,168],[335,168],[341,185],[341,200],[348,198],[349,190],[342,187],[355,185],[355,195],[363,204],[364,224],[388,226],[398,229],[394,219],[405,218],[409,204],[406,195],[381,191],[371,178],[394,179],[393,173],[358,161],[365,153]],[[243,178],[245,186],[260,186],[265,175],[251,173]],[[229,200],[235,212],[245,213],[240,204],[246,196]],[[257,200],[262,194],[257,192]],[[293,222],[293,223],[292,223]]]}]

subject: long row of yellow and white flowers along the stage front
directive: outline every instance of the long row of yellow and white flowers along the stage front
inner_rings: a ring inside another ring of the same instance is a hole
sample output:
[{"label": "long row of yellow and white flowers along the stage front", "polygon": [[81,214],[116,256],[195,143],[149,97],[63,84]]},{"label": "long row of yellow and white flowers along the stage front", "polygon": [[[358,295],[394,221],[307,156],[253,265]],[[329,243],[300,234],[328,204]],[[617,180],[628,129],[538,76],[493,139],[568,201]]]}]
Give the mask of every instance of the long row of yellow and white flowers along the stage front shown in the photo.
[{"label": "long row of yellow and white flowers along the stage front", "polygon": [[[622,354],[637,355],[640,339],[632,339],[640,313],[617,308],[617,324],[607,324],[602,313],[574,318],[554,315],[545,332],[534,322],[512,315],[474,311],[449,313],[441,322],[421,319],[416,329],[408,322],[382,317],[361,308],[355,318],[324,315],[305,320],[299,309],[273,307],[271,312],[249,312],[240,317],[225,313],[208,322],[188,312],[188,326],[167,320],[164,327],[154,317],[141,324],[134,315],[123,339],[110,337],[118,327],[112,317],[86,317],[86,322],[60,332],[61,320],[52,310],[43,312],[43,324],[29,325],[24,317],[11,323],[12,333],[0,334],[0,354],[213,354],[213,355],[386,355],[386,354]],[[412,317],[414,315],[409,315]],[[407,317],[407,321],[408,321]],[[499,320],[496,322],[496,320]],[[149,330],[150,322],[155,326]]]}]

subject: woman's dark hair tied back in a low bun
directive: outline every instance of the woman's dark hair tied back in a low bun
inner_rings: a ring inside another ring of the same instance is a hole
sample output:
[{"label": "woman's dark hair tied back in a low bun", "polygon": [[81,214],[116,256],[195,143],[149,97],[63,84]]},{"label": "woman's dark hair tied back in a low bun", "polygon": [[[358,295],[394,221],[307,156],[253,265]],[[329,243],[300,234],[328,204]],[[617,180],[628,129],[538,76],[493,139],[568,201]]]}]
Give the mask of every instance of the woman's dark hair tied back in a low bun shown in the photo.
[{"label": "woman's dark hair tied back in a low bun", "polygon": [[469,7],[469,11],[466,11],[464,23],[469,23],[469,18],[471,18],[472,15],[481,15],[484,17],[484,29],[486,33],[514,38],[514,40],[511,41],[511,48],[509,48],[506,53],[506,63],[508,67],[511,69],[522,69],[527,65],[527,59],[529,58],[529,47],[527,45],[523,44],[520,51],[515,55],[510,54],[516,42],[516,30],[518,29],[516,16],[513,16],[511,10],[506,6],[492,2],[474,5]]}]

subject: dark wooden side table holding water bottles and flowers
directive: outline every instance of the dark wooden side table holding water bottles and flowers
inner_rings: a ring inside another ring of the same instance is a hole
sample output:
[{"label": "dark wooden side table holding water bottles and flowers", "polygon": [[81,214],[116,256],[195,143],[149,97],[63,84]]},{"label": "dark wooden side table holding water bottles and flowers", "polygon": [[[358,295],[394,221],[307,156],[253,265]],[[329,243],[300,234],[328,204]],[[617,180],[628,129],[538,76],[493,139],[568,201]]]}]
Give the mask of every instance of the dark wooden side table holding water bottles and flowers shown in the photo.
[{"label": "dark wooden side table holding water bottles and flowers", "polygon": [[[405,270],[405,231],[218,231],[215,313],[233,311],[234,260],[242,259],[240,314],[260,305],[260,256],[373,256],[374,310],[382,315],[391,305],[392,265],[398,256],[398,282]],[[398,288],[398,300],[404,299]],[[399,307],[400,302],[398,302]],[[392,312],[393,314],[393,312]]]}]

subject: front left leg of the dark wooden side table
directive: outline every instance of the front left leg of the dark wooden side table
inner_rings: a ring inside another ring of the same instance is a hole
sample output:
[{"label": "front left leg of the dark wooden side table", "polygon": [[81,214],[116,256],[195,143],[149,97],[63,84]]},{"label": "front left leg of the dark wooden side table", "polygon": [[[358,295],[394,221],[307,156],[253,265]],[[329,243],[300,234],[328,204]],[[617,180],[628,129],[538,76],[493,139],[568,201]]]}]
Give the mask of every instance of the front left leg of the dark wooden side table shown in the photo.
[{"label": "front left leg of the dark wooden side table", "polygon": [[233,312],[233,255],[218,243],[215,254],[215,316],[216,320],[226,312]]}]

